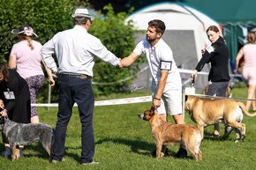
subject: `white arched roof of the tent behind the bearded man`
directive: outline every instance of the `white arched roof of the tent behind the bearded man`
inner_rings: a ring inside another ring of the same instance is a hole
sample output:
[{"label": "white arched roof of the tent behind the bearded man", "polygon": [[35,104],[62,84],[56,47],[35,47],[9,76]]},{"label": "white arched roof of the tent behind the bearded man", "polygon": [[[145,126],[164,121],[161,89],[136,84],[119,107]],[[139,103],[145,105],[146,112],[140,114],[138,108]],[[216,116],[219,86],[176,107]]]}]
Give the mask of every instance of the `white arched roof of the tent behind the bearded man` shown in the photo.
[{"label": "white arched roof of the tent behind the bearded man", "polygon": [[147,29],[147,22],[155,18],[162,19],[165,22],[166,29],[218,26],[215,20],[207,17],[200,11],[190,8],[185,4],[169,2],[148,5],[132,13],[126,20],[132,19],[137,29],[145,30]]}]

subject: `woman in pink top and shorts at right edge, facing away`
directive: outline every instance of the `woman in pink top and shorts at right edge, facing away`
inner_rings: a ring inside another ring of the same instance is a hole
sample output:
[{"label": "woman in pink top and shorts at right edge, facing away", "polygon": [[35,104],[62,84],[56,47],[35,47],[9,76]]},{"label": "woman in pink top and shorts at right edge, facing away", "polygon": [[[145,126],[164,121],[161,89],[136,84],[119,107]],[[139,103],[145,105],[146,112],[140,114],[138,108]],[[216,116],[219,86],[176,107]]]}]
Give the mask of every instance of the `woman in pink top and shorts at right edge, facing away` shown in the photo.
[{"label": "woman in pink top and shorts at right edge, facing away", "polygon": [[255,106],[255,88],[256,88],[256,35],[255,33],[249,32],[247,34],[247,41],[248,44],[246,44],[243,48],[241,48],[237,54],[236,57],[236,70],[234,70],[235,73],[237,73],[238,70],[238,64],[240,60],[244,57],[245,63],[243,67],[243,78],[245,79],[245,84],[248,87],[247,92],[247,100],[246,101],[246,109],[249,110],[252,105],[252,110],[256,111]]}]

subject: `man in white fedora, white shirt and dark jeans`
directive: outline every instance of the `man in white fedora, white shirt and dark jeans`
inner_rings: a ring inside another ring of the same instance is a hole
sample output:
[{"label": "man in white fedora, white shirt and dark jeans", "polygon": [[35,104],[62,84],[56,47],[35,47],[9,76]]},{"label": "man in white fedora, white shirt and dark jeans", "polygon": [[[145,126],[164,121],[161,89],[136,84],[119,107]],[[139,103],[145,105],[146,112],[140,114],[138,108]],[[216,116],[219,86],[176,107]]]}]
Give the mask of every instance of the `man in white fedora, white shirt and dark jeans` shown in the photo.
[{"label": "man in white fedora, white shirt and dark jeans", "polygon": [[[49,69],[59,78],[59,102],[55,137],[52,144],[50,162],[62,161],[64,142],[68,122],[72,116],[72,107],[76,102],[79,107],[81,131],[81,164],[98,164],[94,157],[94,92],[91,78],[95,56],[113,66],[120,61],[102,42],[87,33],[92,17],[87,9],[77,9],[74,14],[75,26],[56,35],[45,43],[41,55]],[[52,54],[56,54],[58,68]]]}]

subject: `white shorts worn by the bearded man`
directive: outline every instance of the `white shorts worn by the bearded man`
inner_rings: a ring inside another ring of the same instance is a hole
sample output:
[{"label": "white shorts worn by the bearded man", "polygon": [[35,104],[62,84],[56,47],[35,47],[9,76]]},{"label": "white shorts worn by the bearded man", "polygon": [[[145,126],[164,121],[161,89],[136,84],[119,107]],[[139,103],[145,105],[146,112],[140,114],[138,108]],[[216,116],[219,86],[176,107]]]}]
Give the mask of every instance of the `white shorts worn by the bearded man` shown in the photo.
[{"label": "white shorts worn by the bearded man", "polygon": [[[155,96],[153,91],[153,99]],[[182,114],[182,90],[181,89],[165,89],[162,93],[161,106],[156,109],[159,115],[180,115]]]}]

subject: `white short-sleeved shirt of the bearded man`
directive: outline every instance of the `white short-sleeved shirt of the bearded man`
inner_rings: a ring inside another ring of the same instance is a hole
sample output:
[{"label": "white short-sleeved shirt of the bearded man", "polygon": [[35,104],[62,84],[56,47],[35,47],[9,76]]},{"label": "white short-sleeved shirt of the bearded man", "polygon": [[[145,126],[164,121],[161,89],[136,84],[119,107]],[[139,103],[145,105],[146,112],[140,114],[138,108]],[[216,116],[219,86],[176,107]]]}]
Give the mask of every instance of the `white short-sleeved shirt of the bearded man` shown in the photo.
[{"label": "white short-sleeved shirt of the bearded man", "polygon": [[147,62],[149,64],[155,85],[158,85],[158,82],[161,78],[161,66],[162,63],[165,62],[171,63],[167,78],[169,87],[172,89],[180,89],[182,87],[180,74],[174,61],[172,50],[165,43],[165,41],[160,39],[160,41],[158,41],[154,47],[151,47],[148,41],[144,39],[137,44],[133,52],[137,55],[145,54],[147,56]]}]

